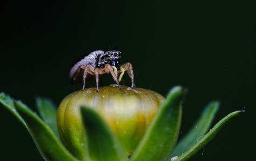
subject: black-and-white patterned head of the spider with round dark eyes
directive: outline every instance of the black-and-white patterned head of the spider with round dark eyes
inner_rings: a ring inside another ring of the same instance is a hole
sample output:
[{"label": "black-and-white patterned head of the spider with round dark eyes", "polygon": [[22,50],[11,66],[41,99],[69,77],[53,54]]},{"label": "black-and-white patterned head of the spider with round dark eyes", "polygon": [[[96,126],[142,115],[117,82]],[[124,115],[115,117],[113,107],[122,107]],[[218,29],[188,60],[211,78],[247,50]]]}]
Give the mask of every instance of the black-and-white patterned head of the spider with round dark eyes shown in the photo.
[{"label": "black-and-white patterned head of the spider with round dark eyes", "polygon": [[101,54],[98,59],[98,67],[103,67],[105,64],[115,66],[117,70],[120,70],[121,52],[117,50],[109,50],[104,54]]}]

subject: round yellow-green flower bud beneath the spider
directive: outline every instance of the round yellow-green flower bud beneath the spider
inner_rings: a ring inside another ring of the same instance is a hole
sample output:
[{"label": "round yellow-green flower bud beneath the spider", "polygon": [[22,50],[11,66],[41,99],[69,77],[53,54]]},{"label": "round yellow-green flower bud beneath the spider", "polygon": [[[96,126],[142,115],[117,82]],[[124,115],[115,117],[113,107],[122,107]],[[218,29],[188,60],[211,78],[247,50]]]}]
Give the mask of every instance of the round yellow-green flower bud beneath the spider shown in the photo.
[{"label": "round yellow-green flower bud beneath the spider", "polygon": [[65,97],[57,113],[57,123],[62,143],[78,159],[82,159],[83,125],[81,106],[87,106],[103,118],[123,145],[127,156],[137,147],[165,98],[159,93],[111,85],[76,91]]}]

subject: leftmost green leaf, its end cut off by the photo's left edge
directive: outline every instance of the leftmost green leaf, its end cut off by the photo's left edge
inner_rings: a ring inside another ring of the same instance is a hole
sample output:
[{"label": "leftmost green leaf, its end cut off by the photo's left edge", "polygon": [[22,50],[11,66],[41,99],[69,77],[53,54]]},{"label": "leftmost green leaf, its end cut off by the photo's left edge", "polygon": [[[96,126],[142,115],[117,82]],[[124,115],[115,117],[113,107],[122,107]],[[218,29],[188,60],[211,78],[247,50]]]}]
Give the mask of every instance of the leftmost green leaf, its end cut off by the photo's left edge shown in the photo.
[{"label": "leftmost green leaf, its end cut off by the photo's left edge", "polygon": [[15,105],[13,103],[13,99],[11,97],[7,96],[5,93],[0,93],[0,103],[3,104],[3,106],[6,107],[6,109],[8,109],[13,115],[15,115],[16,118],[20,122],[22,122],[22,124],[27,128],[25,121],[16,111]]}]

